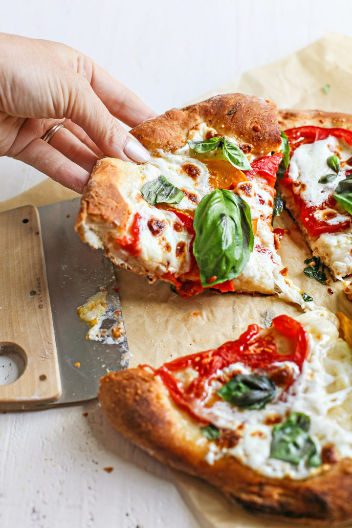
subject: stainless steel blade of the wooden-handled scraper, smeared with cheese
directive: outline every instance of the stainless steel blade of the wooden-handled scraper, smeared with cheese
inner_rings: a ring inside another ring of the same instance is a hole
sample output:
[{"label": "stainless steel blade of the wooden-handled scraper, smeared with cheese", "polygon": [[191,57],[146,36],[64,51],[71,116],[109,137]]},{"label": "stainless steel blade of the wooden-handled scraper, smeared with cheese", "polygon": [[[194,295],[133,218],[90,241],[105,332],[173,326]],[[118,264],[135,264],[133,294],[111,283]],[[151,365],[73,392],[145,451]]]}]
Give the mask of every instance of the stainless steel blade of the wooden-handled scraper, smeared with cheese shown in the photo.
[{"label": "stainless steel blade of the wooden-handled scraper, smeared with cheese", "polygon": [[53,404],[95,398],[99,379],[107,370],[128,366],[122,315],[122,335],[111,345],[87,340],[89,327],[77,315],[77,308],[103,286],[108,287],[109,300],[121,314],[111,261],[83,243],[74,231],[79,205],[77,198],[38,208],[62,383],[62,395]]}]

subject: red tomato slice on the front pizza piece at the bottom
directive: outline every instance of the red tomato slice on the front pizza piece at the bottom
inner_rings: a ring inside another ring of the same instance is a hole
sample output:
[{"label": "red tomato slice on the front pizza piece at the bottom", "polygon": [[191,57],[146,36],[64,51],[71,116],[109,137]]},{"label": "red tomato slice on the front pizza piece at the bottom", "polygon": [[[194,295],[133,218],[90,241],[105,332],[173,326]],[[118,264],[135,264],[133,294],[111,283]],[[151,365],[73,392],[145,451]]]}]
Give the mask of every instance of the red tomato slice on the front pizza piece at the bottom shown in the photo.
[{"label": "red tomato slice on the front pizza piece at the bottom", "polygon": [[[286,338],[291,346],[288,354],[280,354],[275,338]],[[263,329],[258,325],[250,325],[248,329],[236,341],[228,341],[219,348],[208,350],[199,354],[191,354],[180,357],[169,363],[165,363],[155,374],[159,375],[166,385],[170,396],[175,403],[185,409],[191,416],[199,421],[204,421],[197,414],[197,407],[202,407],[202,402],[208,396],[209,386],[218,370],[223,370],[236,362],[244,363],[251,367],[252,371],[270,370],[277,367],[273,363],[290,361],[297,364],[302,371],[309,351],[309,341],[306,329],[295,319],[287,315],[275,317],[269,329]],[[192,367],[198,372],[198,376],[185,387],[174,373]],[[286,389],[292,380],[288,381]]]}]

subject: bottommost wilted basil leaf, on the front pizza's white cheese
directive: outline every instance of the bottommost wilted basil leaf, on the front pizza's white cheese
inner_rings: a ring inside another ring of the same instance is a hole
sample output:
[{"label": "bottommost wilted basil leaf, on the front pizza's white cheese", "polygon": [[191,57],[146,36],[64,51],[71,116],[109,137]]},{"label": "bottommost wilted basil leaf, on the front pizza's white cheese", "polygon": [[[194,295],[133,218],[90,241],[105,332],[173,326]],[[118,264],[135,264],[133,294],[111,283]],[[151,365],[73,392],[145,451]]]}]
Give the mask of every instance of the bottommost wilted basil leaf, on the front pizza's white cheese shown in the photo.
[{"label": "bottommost wilted basil leaf, on the front pizza's white cheese", "polygon": [[285,422],[274,425],[270,458],[296,465],[306,459],[308,466],[320,466],[316,445],[308,435],[309,426],[309,417],[301,412],[292,412]]}]

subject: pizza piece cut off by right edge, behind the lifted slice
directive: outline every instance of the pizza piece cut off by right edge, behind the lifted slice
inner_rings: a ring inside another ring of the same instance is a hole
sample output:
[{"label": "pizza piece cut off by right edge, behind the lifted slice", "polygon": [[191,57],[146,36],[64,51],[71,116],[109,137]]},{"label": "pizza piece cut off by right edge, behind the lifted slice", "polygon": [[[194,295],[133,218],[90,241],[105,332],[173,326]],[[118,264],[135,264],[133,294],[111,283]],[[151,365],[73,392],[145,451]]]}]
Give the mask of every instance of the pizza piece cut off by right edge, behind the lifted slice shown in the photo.
[{"label": "pizza piece cut off by right edge, behind the lifted slice", "polygon": [[[282,110],[290,159],[279,189],[313,256],[352,281],[352,116]],[[317,263],[317,262],[316,262]]]}]

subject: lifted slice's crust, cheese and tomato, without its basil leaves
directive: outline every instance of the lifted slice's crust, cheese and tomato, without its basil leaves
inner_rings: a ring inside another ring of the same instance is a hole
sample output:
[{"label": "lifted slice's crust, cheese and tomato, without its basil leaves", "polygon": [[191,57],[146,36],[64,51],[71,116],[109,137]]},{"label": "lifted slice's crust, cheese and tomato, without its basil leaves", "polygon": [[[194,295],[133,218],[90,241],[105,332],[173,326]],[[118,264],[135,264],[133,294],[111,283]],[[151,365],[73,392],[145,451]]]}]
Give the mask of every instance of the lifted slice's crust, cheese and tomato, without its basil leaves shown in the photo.
[{"label": "lifted slice's crust, cheese and tomato, without its basil leaves", "polygon": [[[282,270],[276,252],[279,240],[271,227],[275,175],[282,157],[272,103],[241,94],[217,96],[170,110],[131,133],[148,148],[150,162],[135,165],[103,158],[97,163],[76,223],[84,241],[93,248],[104,247],[119,266],[150,281],[167,280],[183,297],[195,295],[206,287],[193,253],[195,210],[204,196],[225,189],[249,205],[254,247],[243,271],[214,288],[264,294],[286,291],[292,300],[300,299]],[[198,153],[188,144],[213,138],[239,147],[251,169],[234,167],[220,148]],[[142,187],[160,176],[182,191],[179,203],[151,205],[144,199]]]}]

